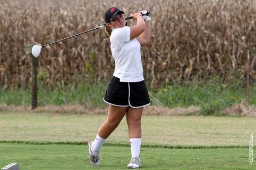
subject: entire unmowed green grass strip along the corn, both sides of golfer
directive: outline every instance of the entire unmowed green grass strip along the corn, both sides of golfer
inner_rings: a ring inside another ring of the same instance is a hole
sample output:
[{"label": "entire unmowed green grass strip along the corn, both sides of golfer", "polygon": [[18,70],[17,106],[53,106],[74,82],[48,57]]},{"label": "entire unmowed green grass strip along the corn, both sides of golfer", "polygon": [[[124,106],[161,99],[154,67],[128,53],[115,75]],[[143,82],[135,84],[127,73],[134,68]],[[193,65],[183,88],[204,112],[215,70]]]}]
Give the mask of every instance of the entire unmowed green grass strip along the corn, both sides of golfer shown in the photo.
[{"label": "entire unmowed green grass strip along the corn, both sides of golfer", "polygon": [[[49,90],[40,85],[38,87],[38,106],[73,105],[105,108],[102,101],[107,83],[90,84],[78,83],[76,86],[54,87]],[[151,104],[163,104],[166,107],[189,107],[191,105],[202,108],[201,115],[218,115],[220,110],[233,104],[246,103],[247,90],[244,82],[233,82],[229,85],[221,84],[217,80],[207,83],[174,84],[154,90],[149,89]],[[250,104],[256,104],[256,86],[250,88]],[[31,90],[0,90],[0,104],[7,106],[30,106]]]}]

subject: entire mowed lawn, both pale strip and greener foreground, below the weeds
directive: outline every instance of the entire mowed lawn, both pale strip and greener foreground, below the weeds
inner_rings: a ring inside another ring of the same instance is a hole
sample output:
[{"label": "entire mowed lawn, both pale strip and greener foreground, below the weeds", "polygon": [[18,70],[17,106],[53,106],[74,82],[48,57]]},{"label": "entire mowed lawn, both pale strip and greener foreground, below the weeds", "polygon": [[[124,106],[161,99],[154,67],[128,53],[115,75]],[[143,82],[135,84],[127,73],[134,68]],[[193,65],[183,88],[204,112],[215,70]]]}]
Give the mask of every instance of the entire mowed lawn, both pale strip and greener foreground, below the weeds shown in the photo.
[{"label": "entire mowed lawn, both pale strip and greener foreground, below the weeds", "polygon": [[[102,147],[100,167],[87,160],[106,115],[0,113],[0,168],[126,169],[130,161],[125,118]],[[142,169],[255,169],[249,163],[256,118],[143,116]],[[254,156],[255,161],[255,156]]]}]

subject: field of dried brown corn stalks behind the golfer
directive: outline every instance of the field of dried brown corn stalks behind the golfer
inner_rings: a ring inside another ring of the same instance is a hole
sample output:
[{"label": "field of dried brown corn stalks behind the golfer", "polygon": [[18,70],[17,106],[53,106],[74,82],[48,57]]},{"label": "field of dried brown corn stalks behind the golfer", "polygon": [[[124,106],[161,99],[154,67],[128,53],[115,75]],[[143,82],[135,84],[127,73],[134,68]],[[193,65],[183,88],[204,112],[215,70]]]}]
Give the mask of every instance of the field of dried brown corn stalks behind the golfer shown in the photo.
[{"label": "field of dried brown corn stalks behind the golfer", "polygon": [[[144,75],[151,87],[204,81],[223,82],[255,72],[256,1],[0,1],[0,85],[26,88],[31,82],[31,55],[25,45],[45,45],[101,26],[105,10],[117,6],[126,17],[149,10],[153,31],[142,47]],[[134,21],[127,21],[129,26]],[[39,82],[49,87],[79,81],[108,80],[114,71],[110,43],[98,29],[42,49]]]}]

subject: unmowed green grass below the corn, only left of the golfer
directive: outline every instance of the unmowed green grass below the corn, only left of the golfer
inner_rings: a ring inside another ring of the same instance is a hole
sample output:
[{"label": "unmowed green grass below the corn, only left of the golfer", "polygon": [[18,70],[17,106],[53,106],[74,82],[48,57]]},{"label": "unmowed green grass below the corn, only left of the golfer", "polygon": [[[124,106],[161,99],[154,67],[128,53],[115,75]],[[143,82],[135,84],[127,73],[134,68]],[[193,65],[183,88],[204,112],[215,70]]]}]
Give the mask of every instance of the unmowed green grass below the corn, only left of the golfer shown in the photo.
[{"label": "unmowed green grass below the corn, only left of the golfer", "polygon": [[[38,87],[37,103],[38,106],[90,104],[94,107],[103,108],[105,103],[102,99],[106,88],[106,85],[83,83],[77,87],[56,87],[54,90],[48,90],[41,85]],[[29,106],[31,104],[31,93],[30,88],[26,90],[0,90],[0,103],[8,106]]]}]

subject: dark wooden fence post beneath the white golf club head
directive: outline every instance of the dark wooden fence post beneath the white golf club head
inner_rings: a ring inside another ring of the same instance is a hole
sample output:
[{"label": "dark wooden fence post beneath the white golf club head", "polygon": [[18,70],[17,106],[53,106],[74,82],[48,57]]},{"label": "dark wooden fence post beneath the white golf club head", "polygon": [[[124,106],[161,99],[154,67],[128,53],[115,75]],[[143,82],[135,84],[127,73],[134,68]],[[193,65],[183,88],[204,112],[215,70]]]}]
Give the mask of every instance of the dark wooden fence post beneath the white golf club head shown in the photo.
[{"label": "dark wooden fence post beneath the white golf club head", "polygon": [[26,54],[30,54],[33,60],[32,64],[32,110],[37,107],[37,58],[32,55],[33,44],[26,45]]}]

